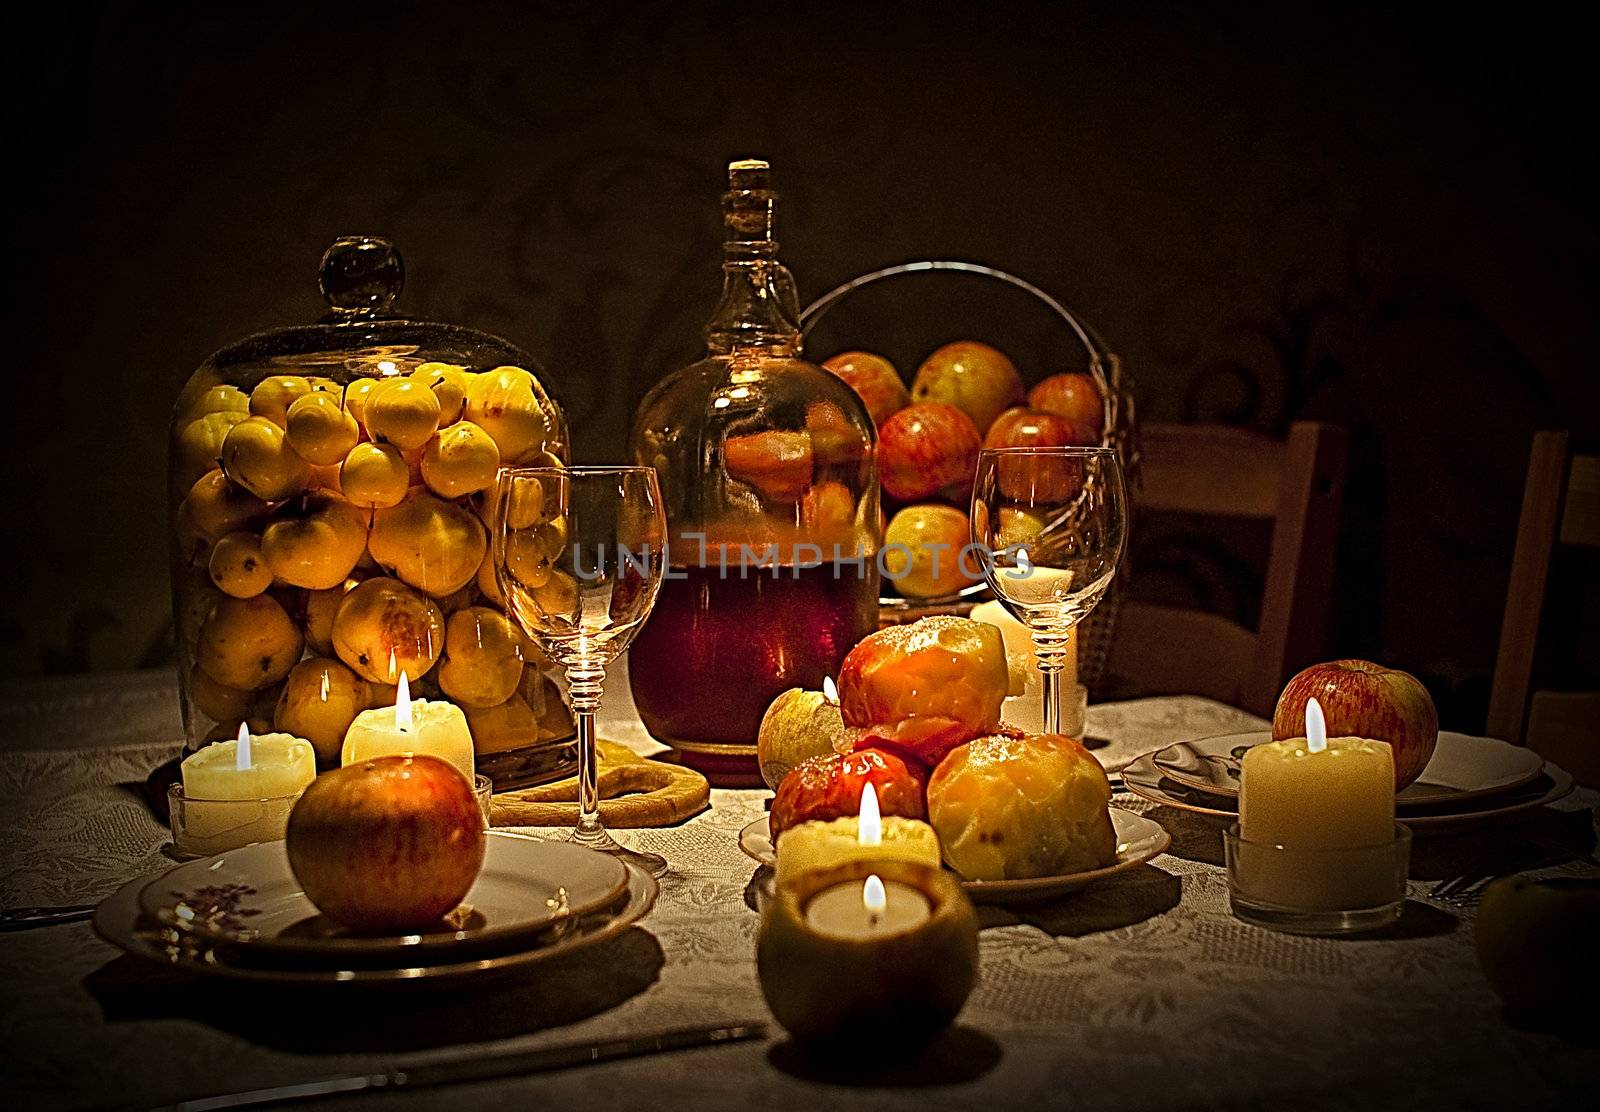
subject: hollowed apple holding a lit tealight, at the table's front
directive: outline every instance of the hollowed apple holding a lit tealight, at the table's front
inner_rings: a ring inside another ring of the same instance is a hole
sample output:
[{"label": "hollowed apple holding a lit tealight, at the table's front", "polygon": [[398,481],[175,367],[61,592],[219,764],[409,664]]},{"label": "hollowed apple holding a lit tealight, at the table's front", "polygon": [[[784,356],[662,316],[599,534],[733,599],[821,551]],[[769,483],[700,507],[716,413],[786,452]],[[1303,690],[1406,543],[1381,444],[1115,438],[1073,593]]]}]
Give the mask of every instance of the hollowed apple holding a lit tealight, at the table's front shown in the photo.
[{"label": "hollowed apple holding a lit tealight, at the table's front", "polygon": [[[877,917],[861,910],[874,890],[886,899]],[[797,1040],[834,1056],[906,1053],[966,1003],[978,918],[944,869],[850,861],[778,886],[762,915],[757,973]]]}]

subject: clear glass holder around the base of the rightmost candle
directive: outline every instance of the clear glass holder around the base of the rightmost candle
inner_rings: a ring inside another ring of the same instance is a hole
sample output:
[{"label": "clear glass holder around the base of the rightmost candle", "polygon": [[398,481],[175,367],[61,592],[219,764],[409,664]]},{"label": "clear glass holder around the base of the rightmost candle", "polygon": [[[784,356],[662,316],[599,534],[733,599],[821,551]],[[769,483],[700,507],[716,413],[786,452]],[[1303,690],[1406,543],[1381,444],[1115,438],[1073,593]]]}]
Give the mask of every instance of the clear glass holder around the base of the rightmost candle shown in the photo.
[{"label": "clear glass holder around the base of the rightmost candle", "polygon": [[1378,845],[1304,848],[1222,834],[1229,906],[1237,918],[1291,934],[1354,934],[1405,907],[1411,830],[1395,822]]}]

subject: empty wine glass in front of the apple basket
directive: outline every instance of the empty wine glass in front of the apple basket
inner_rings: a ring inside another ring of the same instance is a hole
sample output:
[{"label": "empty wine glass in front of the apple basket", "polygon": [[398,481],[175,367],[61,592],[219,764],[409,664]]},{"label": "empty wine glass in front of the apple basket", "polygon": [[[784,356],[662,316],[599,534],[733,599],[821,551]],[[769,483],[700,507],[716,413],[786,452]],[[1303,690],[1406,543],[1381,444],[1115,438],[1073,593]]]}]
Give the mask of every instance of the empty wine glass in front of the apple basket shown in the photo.
[{"label": "empty wine glass in front of the apple basket", "polygon": [[984,579],[1034,638],[1045,731],[1061,733],[1061,670],[1072,627],[1110,587],[1128,533],[1112,448],[986,448],[973,485]]}]

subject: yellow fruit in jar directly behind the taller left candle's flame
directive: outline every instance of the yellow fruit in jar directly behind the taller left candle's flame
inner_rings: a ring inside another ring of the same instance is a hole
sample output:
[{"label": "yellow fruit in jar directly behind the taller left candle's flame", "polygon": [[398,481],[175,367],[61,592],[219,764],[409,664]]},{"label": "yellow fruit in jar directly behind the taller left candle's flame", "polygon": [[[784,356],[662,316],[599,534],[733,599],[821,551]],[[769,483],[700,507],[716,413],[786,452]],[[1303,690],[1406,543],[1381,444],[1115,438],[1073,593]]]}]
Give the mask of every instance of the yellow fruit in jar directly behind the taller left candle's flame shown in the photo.
[{"label": "yellow fruit in jar directly behind the taller left candle's flame", "polygon": [[445,614],[438,605],[389,576],[357,584],[333,618],[334,653],[370,683],[394,685],[402,672],[421,677],[443,648]]}]

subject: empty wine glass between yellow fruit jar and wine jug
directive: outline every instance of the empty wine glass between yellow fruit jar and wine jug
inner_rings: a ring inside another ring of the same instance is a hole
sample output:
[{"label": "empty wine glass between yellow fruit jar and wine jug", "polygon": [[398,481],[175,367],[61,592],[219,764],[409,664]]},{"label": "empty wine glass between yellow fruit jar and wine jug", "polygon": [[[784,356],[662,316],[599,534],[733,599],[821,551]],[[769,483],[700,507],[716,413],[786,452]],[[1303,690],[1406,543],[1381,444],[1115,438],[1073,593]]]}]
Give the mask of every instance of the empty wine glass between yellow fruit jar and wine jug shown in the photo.
[{"label": "empty wine glass between yellow fruit jar and wine jug", "polygon": [[666,517],[654,467],[506,467],[494,486],[494,576],[522,630],[566,669],[578,718],[571,840],[653,877],[666,858],[622,848],[600,822],[595,710],[605,670],[656,605]]}]

